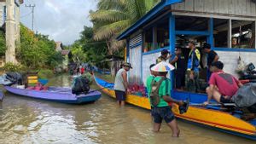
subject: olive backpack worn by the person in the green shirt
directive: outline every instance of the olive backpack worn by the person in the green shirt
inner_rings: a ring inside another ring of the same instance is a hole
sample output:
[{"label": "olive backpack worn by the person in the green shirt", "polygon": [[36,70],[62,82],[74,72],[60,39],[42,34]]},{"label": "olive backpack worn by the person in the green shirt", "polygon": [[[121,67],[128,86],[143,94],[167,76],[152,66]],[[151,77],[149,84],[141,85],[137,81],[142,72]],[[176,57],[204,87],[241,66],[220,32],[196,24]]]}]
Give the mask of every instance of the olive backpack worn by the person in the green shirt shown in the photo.
[{"label": "olive backpack worn by the person in the green shirt", "polygon": [[161,78],[159,82],[152,81],[151,82],[151,93],[150,93],[150,103],[153,107],[157,107],[157,105],[160,102],[160,95],[159,95],[159,89],[160,85],[162,84],[163,81],[165,81],[166,78]]}]

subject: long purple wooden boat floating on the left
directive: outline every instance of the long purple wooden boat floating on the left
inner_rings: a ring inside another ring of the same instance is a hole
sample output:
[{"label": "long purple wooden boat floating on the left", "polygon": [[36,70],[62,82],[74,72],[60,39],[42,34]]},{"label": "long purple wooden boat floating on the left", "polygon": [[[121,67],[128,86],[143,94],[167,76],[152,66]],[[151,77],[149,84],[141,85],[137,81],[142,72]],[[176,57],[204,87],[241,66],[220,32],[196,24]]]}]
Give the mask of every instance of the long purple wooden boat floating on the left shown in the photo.
[{"label": "long purple wooden boat floating on the left", "polygon": [[102,96],[101,92],[93,89],[86,95],[73,95],[71,88],[49,87],[48,90],[19,89],[11,86],[4,88],[15,95],[69,104],[90,103],[97,101]]}]

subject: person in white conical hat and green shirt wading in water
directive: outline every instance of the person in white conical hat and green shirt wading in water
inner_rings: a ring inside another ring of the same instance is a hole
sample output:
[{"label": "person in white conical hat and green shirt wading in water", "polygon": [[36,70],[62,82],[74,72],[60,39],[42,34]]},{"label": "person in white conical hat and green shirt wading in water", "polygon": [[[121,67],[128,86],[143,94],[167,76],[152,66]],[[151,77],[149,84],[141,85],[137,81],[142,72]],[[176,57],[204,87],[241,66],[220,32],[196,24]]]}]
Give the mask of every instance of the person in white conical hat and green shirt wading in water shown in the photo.
[{"label": "person in white conical hat and green shirt wading in water", "polygon": [[158,72],[158,74],[155,78],[148,78],[147,89],[149,94],[148,100],[152,107],[151,115],[154,118],[154,132],[160,131],[160,126],[164,119],[166,124],[172,129],[172,136],[178,137],[180,130],[177,127],[177,121],[168,102],[174,102],[182,106],[183,101],[172,99],[171,80],[166,78],[168,71],[173,69],[174,67],[165,61],[153,66],[151,70]]}]

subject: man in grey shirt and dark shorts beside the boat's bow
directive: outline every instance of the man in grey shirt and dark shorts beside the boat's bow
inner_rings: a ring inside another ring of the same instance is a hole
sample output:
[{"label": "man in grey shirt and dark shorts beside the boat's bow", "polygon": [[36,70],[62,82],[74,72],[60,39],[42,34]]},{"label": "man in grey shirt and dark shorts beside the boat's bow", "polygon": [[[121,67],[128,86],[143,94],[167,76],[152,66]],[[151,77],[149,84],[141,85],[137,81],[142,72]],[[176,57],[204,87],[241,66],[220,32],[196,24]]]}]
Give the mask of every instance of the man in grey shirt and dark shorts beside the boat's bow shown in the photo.
[{"label": "man in grey shirt and dark shorts beside the boat's bow", "polygon": [[127,82],[127,72],[130,71],[131,64],[125,62],[123,67],[117,72],[114,80],[114,92],[116,96],[117,103],[120,106],[125,106],[125,96],[128,88]]}]

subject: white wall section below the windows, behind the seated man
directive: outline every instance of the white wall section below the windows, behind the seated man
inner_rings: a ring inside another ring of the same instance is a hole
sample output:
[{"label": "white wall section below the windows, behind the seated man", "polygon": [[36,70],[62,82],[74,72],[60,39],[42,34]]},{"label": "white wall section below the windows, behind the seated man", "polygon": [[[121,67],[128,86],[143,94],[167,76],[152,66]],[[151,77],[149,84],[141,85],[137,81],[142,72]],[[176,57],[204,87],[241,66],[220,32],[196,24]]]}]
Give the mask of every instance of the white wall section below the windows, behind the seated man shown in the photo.
[{"label": "white wall section below the windows, behind the seated man", "polygon": [[232,52],[232,51],[216,51],[219,55],[219,60],[224,62],[224,72],[236,75],[236,68],[239,56],[246,64],[253,62],[256,66],[256,52]]}]

